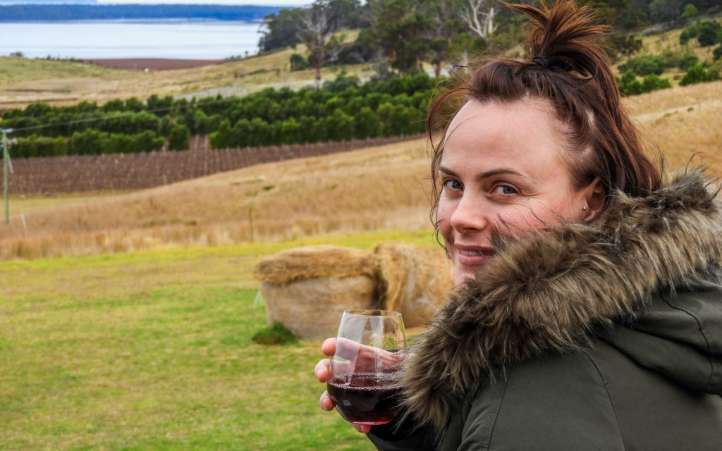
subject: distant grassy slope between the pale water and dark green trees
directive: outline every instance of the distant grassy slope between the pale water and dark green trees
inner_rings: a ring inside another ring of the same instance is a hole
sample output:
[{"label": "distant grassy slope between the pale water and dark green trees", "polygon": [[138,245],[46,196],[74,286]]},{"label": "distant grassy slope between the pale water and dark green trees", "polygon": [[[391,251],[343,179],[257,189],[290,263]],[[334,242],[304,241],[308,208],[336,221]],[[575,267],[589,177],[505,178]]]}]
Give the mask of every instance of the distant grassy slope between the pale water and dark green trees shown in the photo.
[{"label": "distant grassy slope between the pale water and dark green trees", "polygon": [[[348,32],[353,40],[357,32]],[[75,105],[79,102],[103,104],[113,99],[152,94],[214,97],[242,96],[266,87],[300,88],[313,84],[313,69],[290,71],[293,53],[305,54],[305,47],[285,48],[261,56],[250,56],[221,64],[170,71],[123,71],[95,64],[49,61],[0,56],[0,110],[25,108],[33,102],[51,105]],[[142,68],[139,68],[142,69]],[[346,66],[350,75],[368,79],[369,64]],[[324,68],[321,77],[333,80],[336,74]]]}]

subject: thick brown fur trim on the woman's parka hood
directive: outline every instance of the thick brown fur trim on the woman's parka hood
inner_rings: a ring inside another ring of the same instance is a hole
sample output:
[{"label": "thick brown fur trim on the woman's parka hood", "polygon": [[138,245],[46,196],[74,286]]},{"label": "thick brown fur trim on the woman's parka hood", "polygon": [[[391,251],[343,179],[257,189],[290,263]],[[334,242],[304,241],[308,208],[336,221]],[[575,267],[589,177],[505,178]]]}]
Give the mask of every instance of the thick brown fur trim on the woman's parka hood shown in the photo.
[{"label": "thick brown fur trim on the woman's parka hood", "polygon": [[[406,407],[419,423],[443,429],[464,398],[505,368],[588,346],[593,329],[644,315],[654,293],[686,286],[721,262],[722,204],[699,170],[645,197],[617,194],[591,225],[509,242],[412,347]],[[707,377],[702,390],[722,393],[722,299],[714,309],[716,340],[696,350],[709,374],[697,379]]]}]

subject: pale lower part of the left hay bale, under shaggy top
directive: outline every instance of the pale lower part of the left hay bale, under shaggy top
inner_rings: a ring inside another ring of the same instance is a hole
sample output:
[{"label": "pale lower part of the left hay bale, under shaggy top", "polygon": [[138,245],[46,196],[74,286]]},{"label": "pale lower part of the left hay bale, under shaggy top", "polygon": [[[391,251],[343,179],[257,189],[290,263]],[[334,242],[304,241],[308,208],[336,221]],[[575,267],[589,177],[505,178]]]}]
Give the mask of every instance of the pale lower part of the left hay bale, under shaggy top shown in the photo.
[{"label": "pale lower part of the left hay bale, under shaggy top", "polygon": [[277,285],[261,282],[266,319],[282,323],[300,338],[336,335],[344,310],[376,308],[376,284],[367,276],[300,280]]}]

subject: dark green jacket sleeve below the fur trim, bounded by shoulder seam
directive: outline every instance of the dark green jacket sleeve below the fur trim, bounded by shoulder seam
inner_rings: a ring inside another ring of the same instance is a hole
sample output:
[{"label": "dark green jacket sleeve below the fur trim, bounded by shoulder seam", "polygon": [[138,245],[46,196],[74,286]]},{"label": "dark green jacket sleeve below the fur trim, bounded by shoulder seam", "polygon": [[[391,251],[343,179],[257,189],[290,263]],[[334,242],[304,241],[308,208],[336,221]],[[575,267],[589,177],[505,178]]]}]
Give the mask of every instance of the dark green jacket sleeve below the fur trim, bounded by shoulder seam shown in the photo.
[{"label": "dark green jacket sleeve below the fur trim, bounded by shoulder seam", "polygon": [[517,364],[479,390],[455,438],[444,451],[625,449],[605,381],[583,352]]}]

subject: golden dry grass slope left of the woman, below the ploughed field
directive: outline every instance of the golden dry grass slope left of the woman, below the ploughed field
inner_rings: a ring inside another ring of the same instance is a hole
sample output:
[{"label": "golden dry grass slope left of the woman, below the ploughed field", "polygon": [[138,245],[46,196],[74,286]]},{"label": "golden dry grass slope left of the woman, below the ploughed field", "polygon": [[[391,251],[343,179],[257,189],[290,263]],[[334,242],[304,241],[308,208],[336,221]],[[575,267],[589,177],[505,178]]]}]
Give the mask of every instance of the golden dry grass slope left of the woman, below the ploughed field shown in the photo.
[{"label": "golden dry grass slope left of the woman, below the ploughed field", "polygon": [[[0,258],[226,245],[428,227],[425,141],[226,172],[52,206],[0,227]],[[22,201],[17,201],[22,202]]]}]

